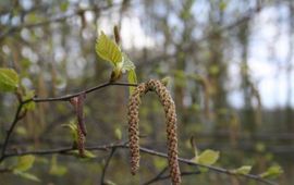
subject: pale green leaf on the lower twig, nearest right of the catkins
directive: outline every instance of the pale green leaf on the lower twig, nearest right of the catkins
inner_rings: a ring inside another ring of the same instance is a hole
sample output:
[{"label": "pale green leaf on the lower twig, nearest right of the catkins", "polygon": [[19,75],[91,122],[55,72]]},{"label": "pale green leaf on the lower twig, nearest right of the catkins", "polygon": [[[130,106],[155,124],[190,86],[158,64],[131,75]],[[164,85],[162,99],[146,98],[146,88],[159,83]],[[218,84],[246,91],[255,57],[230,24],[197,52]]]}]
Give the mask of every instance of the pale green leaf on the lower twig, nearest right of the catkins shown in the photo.
[{"label": "pale green leaf on the lower twig, nearest right of the catkins", "polygon": [[211,165],[218,161],[220,157],[219,151],[207,149],[194,159],[196,163]]}]

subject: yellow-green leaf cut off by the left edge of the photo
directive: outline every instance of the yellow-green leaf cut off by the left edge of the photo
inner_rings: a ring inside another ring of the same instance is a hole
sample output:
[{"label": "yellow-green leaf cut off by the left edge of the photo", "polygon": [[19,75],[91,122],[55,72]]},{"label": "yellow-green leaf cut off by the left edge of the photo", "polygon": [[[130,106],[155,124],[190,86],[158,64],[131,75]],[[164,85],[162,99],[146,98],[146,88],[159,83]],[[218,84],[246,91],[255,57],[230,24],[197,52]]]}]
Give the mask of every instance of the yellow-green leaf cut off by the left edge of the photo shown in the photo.
[{"label": "yellow-green leaf cut off by the left edge of the photo", "polygon": [[0,69],[0,91],[15,91],[19,87],[19,75],[12,69]]}]

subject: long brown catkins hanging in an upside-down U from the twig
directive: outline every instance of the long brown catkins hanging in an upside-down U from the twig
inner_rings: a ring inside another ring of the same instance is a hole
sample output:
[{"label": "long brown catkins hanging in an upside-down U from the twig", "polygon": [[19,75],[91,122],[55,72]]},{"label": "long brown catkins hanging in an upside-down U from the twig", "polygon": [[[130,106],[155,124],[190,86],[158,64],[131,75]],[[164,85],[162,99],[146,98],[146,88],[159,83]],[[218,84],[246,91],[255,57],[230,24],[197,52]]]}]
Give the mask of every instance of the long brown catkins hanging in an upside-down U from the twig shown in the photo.
[{"label": "long brown catkins hanging in an upside-down U from the twig", "polygon": [[140,98],[147,91],[155,91],[166,112],[166,124],[168,135],[168,160],[170,175],[173,185],[181,184],[181,172],[177,161],[177,136],[176,136],[176,113],[175,106],[167,87],[157,79],[139,84],[128,100],[128,139],[131,151],[131,172],[135,174],[139,166],[139,118],[138,110]]}]

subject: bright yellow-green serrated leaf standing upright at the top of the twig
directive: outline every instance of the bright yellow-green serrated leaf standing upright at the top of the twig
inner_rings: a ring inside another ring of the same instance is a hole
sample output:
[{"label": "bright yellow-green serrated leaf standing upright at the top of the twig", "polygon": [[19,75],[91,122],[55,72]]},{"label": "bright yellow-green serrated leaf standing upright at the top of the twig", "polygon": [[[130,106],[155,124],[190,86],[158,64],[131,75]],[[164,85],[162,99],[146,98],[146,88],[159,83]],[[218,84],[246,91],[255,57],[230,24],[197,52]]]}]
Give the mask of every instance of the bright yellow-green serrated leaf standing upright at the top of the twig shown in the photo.
[{"label": "bright yellow-green serrated leaf standing upright at the top of the twig", "polygon": [[108,38],[103,32],[101,32],[100,36],[97,38],[96,52],[101,59],[111,62],[114,66],[122,63],[120,47]]}]

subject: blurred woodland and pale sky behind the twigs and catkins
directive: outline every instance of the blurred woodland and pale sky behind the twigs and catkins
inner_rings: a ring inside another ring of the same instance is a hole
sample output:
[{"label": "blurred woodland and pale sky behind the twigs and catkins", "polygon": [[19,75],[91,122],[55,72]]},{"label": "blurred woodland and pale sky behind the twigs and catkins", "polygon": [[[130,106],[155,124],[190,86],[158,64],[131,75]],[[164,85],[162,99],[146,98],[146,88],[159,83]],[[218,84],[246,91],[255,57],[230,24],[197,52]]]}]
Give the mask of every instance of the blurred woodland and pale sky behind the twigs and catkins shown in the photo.
[{"label": "blurred woodland and pale sky behind the twigs and catkins", "polygon": [[[193,136],[199,150],[220,151],[216,165],[248,164],[259,174],[279,163],[284,174],[277,181],[294,183],[293,0],[1,0],[0,66],[17,71],[38,97],[99,85],[109,81],[111,65],[95,52],[97,33],[113,37],[114,25],[138,82],[171,77],[181,157],[194,157]],[[87,96],[87,146],[118,141],[120,132],[127,139],[127,87],[118,86]],[[14,95],[0,94],[1,140],[16,106]],[[17,124],[10,150],[71,146],[71,133],[61,125],[74,118],[69,102],[38,103]],[[142,146],[167,152],[163,109],[156,96],[144,98],[140,133]],[[109,151],[95,155],[89,161],[38,157],[32,173],[48,185],[99,184]],[[62,172],[51,171],[53,162]],[[143,184],[166,165],[164,159],[142,155],[139,173],[132,176],[128,151],[121,149],[106,178]],[[34,184],[13,174],[0,178],[3,185]],[[208,172],[185,176],[183,184],[258,183]]]}]

